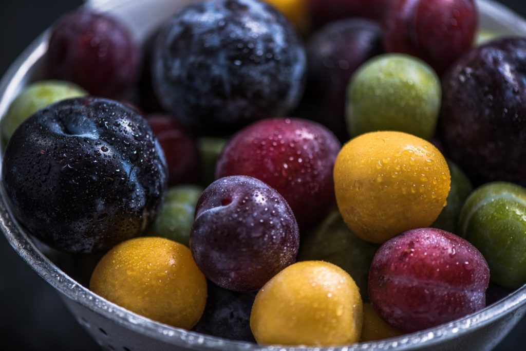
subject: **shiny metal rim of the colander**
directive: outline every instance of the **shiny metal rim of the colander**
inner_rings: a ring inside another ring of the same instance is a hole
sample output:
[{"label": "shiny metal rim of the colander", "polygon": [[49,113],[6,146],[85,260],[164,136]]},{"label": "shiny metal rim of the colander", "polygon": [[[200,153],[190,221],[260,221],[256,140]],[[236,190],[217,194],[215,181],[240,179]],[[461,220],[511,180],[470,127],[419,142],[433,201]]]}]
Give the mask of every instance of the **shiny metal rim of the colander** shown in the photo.
[{"label": "shiny metal rim of the colander", "polygon": [[[129,0],[127,0],[129,1]],[[123,1],[94,0],[96,8],[102,11],[114,9]],[[126,2],[126,1],[124,1]],[[507,7],[490,0],[478,0],[479,11],[485,16],[490,16],[502,27],[526,36],[526,22],[523,18],[513,13]],[[39,36],[16,61],[9,67],[0,82],[0,116],[4,116],[9,103],[18,94],[20,89],[28,82],[28,74],[47,50],[48,32]],[[3,151],[0,150],[0,159]],[[1,172],[0,165],[0,172]],[[0,187],[0,228],[8,242],[16,252],[30,265],[42,278],[52,285],[58,292],[74,300],[94,313],[113,320],[120,326],[133,330],[136,333],[149,336],[174,346],[190,349],[211,348],[216,350],[253,350],[253,351],[353,351],[372,349],[401,349],[410,350],[423,345],[432,346],[446,343],[460,335],[470,333],[491,324],[499,318],[512,313],[514,310],[526,305],[526,285],[515,290],[514,293],[501,299],[477,313],[454,320],[451,323],[423,330],[422,332],[403,335],[400,337],[381,340],[379,342],[358,343],[339,347],[287,347],[287,346],[261,346],[246,342],[237,342],[213,336],[189,332],[164,325],[154,320],[119,307],[108,300],[95,295],[89,289],[78,284],[66,275],[56,265],[41,253],[35,246],[31,237],[19,226],[11,210],[5,189]]]}]

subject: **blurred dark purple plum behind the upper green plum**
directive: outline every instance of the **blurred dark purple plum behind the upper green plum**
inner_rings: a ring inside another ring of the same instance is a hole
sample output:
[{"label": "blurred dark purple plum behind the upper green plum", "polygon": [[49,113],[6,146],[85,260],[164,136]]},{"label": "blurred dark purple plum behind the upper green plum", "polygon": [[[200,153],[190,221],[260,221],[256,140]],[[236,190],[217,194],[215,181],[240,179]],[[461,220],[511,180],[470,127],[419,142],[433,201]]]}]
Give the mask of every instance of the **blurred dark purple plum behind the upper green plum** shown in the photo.
[{"label": "blurred dark purple plum behind the upper green plum", "polygon": [[307,45],[307,91],[309,117],[327,126],[340,141],[347,142],[346,92],[356,69],[382,53],[382,32],[376,22],[350,18],[331,23]]}]

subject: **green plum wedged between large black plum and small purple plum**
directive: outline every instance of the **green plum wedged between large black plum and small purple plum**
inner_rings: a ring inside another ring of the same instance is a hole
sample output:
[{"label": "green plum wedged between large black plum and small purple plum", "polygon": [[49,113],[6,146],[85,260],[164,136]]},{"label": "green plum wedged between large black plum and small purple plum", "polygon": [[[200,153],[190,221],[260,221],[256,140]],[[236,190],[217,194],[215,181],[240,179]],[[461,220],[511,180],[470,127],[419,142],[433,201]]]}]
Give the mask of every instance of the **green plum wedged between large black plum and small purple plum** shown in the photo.
[{"label": "green plum wedged between large black plum and small purple plum", "polygon": [[168,189],[163,208],[155,223],[147,230],[147,235],[165,237],[189,246],[197,200],[203,190],[197,185],[181,185]]}]

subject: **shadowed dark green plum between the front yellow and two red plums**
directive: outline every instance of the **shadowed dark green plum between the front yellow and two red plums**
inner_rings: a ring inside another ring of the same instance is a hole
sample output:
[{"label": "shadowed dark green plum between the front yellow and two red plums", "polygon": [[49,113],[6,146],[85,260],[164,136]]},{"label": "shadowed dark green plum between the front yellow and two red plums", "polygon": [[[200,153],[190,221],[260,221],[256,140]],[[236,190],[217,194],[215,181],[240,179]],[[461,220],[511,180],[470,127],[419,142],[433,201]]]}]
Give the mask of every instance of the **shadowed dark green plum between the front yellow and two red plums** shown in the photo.
[{"label": "shadowed dark green plum between the front yellow and two red plums", "polygon": [[336,211],[301,238],[298,261],[322,260],[346,270],[360,288],[363,300],[367,301],[369,267],[379,247],[353,234]]}]

